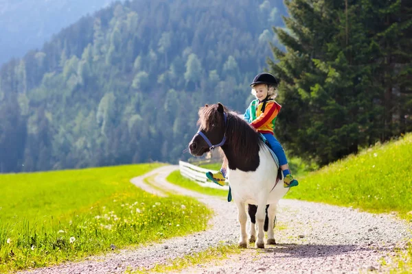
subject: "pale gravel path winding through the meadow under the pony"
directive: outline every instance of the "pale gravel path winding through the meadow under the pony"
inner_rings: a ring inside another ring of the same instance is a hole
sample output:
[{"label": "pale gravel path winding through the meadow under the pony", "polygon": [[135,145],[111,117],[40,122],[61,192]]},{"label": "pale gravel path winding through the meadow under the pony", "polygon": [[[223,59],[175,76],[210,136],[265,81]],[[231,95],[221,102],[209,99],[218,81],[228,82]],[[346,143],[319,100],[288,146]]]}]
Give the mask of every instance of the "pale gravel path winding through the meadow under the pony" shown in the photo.
[{"label": "pale gravel path winding through the meadow under the pony", "polygon": [[[163,166],[130,182],[148,192],[165,195],[144,183],[145,177],[155,175],[155,184],[161,189],[196,197],[216,213],[207,231],[30,273],[122,273],[126,269],[163,264],[168,259],[202,251],[221,242],[237,242],[239,225],[235,204],[169,184],[165,177],[176,169],[179,166]],[[380,266],[382,258],[390,263],[394,249],[403,249],[412,238],[412,223],[396,219],[391,214],[370,214],[288,199],[281,200],[278,208],[278,227],[286,228],[275,230],[278,245],[266,246],[264,250],[251,247],[227,260],[197,265],[182,272],[359,273],[369,269],[386,272]]]}]

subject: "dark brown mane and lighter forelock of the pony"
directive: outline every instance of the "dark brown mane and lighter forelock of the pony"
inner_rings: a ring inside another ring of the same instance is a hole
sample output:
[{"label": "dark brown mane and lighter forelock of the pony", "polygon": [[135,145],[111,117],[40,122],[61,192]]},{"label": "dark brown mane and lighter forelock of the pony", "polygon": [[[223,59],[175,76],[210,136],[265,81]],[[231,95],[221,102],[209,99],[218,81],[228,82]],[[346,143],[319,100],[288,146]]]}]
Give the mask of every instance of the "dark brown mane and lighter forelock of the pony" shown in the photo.
[{"label": "dark brown mane and lighter forelock of the pony", "polygon": [[[263,144],[262,138],[255,129],[244,121],[242,114],[234,112],[223,107],[227,114],[226,121],[226,138],[227,142],[231,142],[233,147],[238,147],[242,150],[243,155],[253,155],[258,151],[258,147]],[[214,125],[224,123],[223,116],[218,112],[218,104],[205,105],[198,112],[198,125],[201,129],[208,131]]]}]

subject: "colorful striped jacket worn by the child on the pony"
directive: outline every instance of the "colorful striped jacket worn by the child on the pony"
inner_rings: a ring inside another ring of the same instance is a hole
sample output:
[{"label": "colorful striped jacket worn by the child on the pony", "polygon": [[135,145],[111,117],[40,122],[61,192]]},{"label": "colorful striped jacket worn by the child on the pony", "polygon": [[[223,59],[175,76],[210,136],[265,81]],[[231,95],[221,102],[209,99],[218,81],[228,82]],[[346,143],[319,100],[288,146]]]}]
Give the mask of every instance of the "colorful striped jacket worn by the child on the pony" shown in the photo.
[{"label": "colorful striped jacket worn by the child on the pony", "polygon": [[258,132],[273,135],[276,117],[282,105],[279,105],[274,99],[269,99],[266,101],[264,112],[262,112],[263,105],[264,102],[260,102],[258,99],[253,100],[243,117]]}]

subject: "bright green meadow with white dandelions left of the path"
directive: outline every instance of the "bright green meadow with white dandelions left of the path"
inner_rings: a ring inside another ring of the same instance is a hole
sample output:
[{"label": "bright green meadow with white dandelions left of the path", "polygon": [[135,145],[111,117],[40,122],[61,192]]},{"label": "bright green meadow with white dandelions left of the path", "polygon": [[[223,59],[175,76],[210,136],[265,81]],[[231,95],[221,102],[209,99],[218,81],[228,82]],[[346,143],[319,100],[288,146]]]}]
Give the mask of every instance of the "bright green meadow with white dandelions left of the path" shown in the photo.
[{"label": "bright green meadow with white dandelions left of the path", "polygon": [[0,175],[0,272],[205,229],[211,212],[195,199],[156,197],[129,182],[158,166]]}]

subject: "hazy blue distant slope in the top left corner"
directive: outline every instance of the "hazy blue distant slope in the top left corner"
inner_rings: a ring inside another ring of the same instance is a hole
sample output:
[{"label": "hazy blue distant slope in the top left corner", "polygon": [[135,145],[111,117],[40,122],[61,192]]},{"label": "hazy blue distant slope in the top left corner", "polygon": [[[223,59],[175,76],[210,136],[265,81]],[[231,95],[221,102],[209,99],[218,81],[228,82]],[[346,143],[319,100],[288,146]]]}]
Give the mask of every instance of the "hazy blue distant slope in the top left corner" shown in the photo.
[{"label": "hazy blue distant slope in the top left corner", "polygon": [[0,1],[0,64],[20,58],[63,27],[106,7],[114,0]]}]

